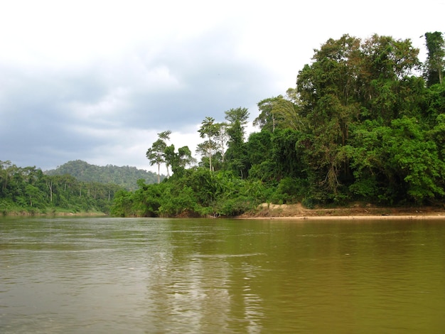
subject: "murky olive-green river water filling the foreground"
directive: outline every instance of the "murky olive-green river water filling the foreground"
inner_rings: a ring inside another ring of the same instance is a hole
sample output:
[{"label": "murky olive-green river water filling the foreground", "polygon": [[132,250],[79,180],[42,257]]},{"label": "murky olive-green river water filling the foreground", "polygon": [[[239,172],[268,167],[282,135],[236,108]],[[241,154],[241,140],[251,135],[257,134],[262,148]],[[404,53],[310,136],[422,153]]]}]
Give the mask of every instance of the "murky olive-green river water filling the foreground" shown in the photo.
[{"label": "murky olive-green river water filling the foreground", "polygon": [[445,221],[0,220],[0,333],[444,333]]}]

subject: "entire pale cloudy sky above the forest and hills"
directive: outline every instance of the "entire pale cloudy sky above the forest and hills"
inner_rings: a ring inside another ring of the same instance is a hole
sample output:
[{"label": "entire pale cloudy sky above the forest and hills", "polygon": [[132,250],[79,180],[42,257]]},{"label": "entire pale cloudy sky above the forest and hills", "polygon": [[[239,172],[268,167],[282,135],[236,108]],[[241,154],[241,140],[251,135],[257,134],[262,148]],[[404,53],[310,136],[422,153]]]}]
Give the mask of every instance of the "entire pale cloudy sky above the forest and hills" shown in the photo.
[{"label": "entire pale cloudy sky above the forest and hills", "polygon": [[410,38],[423,61],[444,13],[445,0],[0,0],[0,161],[156,172],[159,132],[195,151],[205,117],[245,107],[252,124],[329,38]]}]

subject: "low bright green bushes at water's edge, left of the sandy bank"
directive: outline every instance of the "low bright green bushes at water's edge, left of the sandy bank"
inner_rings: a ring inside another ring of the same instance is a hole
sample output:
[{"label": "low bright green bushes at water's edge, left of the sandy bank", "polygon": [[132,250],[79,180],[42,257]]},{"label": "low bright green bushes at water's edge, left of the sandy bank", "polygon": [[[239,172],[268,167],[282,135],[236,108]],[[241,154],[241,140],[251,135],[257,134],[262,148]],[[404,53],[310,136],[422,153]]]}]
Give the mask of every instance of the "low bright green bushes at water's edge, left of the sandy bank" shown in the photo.
[{"label": "low bright green bushes at water's edge, left of the sandy bank", "polygon": [[261,181],[242,180],[232,172],[191,168],[134,193],[117,193],[112,215],[121,217],[234,216],[266,200]]}]

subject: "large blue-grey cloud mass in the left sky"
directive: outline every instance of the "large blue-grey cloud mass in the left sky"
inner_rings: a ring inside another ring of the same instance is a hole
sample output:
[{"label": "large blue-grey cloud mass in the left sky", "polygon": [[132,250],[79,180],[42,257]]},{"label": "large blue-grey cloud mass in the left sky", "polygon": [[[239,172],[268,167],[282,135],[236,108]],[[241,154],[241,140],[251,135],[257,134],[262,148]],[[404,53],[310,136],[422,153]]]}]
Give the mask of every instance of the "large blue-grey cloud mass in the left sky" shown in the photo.
[{"label": "large blue-grey cloud mass in the left sky", "polygon": [[55,167],[119,146],[114,129],[183,131],[268,97],[272,74],[237,56],[224,32],[149,46],[83,67],[0,65],[0,160]]}]

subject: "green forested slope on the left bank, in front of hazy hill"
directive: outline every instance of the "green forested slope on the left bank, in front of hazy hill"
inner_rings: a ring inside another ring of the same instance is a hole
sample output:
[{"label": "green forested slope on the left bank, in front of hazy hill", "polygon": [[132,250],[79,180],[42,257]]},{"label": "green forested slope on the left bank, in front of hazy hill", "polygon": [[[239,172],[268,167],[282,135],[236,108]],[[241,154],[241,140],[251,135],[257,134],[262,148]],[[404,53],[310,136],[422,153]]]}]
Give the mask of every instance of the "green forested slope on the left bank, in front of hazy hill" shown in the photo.
[{"label": "green forested slope on the left bank, in front of hazy hill", "polygon": [[40,168],[0,161],[0,213],[109,212],[119,185],[45,175]]}]

